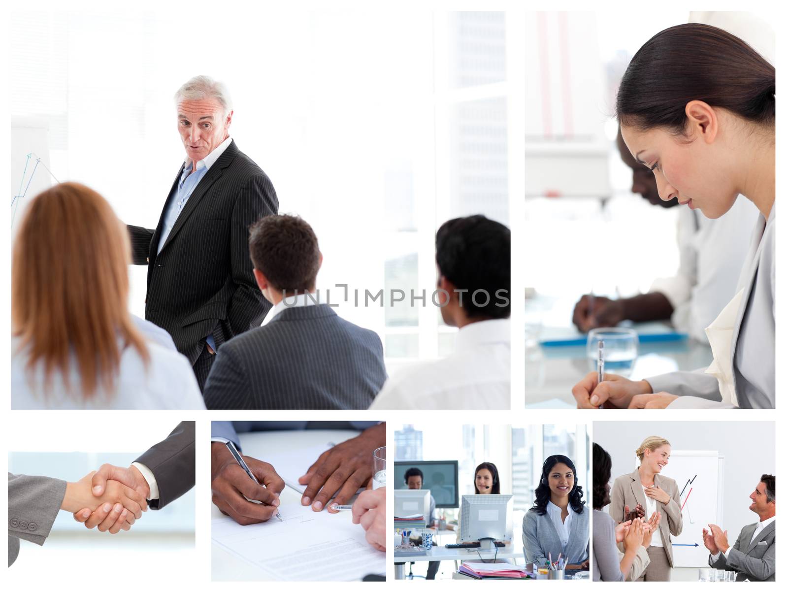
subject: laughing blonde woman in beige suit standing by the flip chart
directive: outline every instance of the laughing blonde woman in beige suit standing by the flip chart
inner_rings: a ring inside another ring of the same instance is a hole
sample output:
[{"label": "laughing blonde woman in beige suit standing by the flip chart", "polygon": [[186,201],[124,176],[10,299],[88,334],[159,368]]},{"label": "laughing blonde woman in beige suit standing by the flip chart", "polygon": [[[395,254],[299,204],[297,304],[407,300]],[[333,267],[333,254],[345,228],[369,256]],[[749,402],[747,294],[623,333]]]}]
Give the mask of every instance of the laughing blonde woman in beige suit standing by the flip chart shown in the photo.
[{"label": "laughing blonde woman in beige suit standing by the flip chart", "polygon": [[640,466],[632,474],[615,479],[610,496],[610,515],[616,522],[631,519],[628,507],[642,507],[645,518],[662,514],[660,535],[653,536],[648,548],[649,566],[638,581],[670,581],[673,567],[671,535],[682,533],[682,509],[678,485],[660,474],[671,458],[671,444],[662,437],[646,437],[635,452]]}]

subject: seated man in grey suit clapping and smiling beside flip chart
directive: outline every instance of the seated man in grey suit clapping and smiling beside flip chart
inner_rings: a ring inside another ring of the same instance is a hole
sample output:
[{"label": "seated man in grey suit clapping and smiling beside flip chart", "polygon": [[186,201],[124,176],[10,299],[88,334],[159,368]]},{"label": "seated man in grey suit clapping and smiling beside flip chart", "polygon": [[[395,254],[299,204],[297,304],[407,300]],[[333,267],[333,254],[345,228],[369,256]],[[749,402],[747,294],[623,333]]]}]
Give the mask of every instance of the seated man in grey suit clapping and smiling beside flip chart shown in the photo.
[{"label": "seated man in grey suit clapping and smiling beside flip chart", "polygon": [[753,501],[749,510],[760,518],[757,523],[742,528],[734,545],[728,544],[728,532],[714,524],[703,530],[703,542],[708,548],[708,564],[719,570],[735,571],[737,581],[775,580],[775,518],[776,479],[764,474],[749,496]]}]

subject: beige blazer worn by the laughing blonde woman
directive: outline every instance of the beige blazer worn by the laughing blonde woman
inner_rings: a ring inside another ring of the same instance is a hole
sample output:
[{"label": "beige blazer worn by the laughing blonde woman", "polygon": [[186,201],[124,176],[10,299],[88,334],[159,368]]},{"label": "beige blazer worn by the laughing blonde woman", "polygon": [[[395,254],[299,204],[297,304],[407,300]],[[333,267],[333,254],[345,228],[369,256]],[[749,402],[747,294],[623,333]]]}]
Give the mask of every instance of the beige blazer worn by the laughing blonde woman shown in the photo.
[{"label": "beige blazer worn by the laughing blonde woman", "polygon": [[[656,501],[656,510],[662,513],[660,537],[667,553],[667,562],[673,567],[671,533],[674,536],[682,533],[682,505],[678,496],[678,485],[673,478],[667,478],[662,474],[654,475],[654,484],[671,496],[671,500],[667,504]],[[615,519],[616,523],[623,522],[624,505],[629,505],[631,510],[638,503],[645,507],[645,493],[640,482],[640,473],[636,468],[632,474],[619,476],[613,482],[613,489],[610,493],[610,516]]]}]

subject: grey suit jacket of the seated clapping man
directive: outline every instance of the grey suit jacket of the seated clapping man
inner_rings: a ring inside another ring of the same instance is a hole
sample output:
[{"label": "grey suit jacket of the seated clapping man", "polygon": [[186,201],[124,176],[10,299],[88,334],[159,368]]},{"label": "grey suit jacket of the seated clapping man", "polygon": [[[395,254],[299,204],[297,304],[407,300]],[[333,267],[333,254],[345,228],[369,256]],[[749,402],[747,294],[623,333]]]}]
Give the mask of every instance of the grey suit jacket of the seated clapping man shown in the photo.
[{"label": "grey suit jacket of the seated clapping man", "polygon": [[742,533],[736,538],[733,548],[730,548],[728,557],[720,554],[716,561],[708,556],[708,565],[726,571],[736,571],[737,581],[774,581],[775,556],[775,522],[771,522],[753,539],[757,523],[750,523],[742,528]]}]

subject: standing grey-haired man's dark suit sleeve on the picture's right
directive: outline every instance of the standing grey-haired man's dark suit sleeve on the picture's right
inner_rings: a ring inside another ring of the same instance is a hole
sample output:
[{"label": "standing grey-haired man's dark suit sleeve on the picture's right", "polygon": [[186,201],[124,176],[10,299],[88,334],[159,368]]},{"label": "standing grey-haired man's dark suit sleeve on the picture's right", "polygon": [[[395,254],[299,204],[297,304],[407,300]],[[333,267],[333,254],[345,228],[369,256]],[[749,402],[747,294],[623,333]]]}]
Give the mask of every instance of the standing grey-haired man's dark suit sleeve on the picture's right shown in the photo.
[{"label": "standing grey-haired man's dark suit sleeve on the picture's right", "polygon": [[[249,226],[279,209],[277,193],[264,174],[252,177],[241,189],[232,208],[230,260],[236,290],[227,310],[232,336],[260,325],[271,304],[262,296],[249,258]],[[214,337],[216,335],[214,334]],[[221,345],[219,345],[221,347]]]}]

